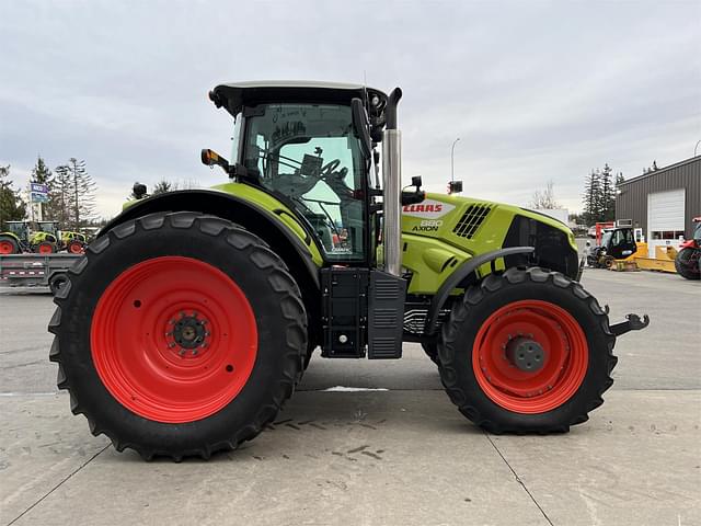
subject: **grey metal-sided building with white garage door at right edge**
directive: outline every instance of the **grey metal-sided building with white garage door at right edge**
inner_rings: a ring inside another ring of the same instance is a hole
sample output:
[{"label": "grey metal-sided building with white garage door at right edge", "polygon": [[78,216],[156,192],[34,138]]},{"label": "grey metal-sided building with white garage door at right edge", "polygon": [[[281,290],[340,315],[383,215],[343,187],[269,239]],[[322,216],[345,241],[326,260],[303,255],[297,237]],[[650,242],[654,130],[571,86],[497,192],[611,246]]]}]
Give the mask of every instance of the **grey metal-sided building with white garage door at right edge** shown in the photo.
[{"label": "grey metal-sided building with white garage door at right edge", "polygon": [[655,247],[677,247],[689,239],[693,217],[701,216],[701,156],[644,173],[621,183],[616,220],[642,228],[654,258]]}]

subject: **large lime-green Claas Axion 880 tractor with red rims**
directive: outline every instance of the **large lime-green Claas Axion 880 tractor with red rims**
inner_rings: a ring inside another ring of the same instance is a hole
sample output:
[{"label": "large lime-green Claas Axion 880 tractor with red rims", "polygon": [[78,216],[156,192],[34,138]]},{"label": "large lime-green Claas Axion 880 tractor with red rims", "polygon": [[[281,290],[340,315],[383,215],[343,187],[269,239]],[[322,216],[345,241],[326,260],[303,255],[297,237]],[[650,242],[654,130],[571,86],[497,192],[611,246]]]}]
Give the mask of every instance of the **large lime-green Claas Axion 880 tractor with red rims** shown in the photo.
[{"label": "large lime-green Claas Axion 880 tractor with red rims", "polygon": [[131,203],[55,299],[58,387],[93,434],[147,459],[209,458],[274,421],[317,347],[392,359],[407,341],[490,432],[566,432],[602,403],[617,338],[647,317],[609,324],[565,225],[420,178],[402,190],[401,94],[210,92],[233,151],[202,157],[229,181]]}]

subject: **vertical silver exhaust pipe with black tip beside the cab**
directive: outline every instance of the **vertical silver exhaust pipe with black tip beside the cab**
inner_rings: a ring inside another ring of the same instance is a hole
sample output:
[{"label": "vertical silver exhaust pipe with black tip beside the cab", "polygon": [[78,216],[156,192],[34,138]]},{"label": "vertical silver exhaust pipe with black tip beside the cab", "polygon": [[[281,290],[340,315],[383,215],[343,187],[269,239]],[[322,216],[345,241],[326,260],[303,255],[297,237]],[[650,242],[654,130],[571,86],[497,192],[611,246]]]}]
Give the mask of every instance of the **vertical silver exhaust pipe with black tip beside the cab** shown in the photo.
[{"label": "vertical silver exhaust pipe with black tip beside the cab", "polygon": [[402,134],[397,129],[397,105],[401,98],[402,90],[394,88],[387,101],[386,126],[382,132],[384,271],[394,276],[399,276],[402,272]]}]

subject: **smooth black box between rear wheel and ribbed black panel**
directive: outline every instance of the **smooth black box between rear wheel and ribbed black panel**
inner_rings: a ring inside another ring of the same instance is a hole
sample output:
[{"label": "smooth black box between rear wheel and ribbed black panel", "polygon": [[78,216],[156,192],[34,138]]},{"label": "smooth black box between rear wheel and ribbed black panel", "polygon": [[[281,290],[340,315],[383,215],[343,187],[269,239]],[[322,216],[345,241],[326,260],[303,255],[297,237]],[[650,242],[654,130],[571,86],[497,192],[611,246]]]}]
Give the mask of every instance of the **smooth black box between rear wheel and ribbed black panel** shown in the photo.
[{"label": "smooth black box between rear wheel and ribbed black panel", "polygon": [[325,358],[365,356],[368,312],[368,271],[331,267],[321,271],[323,340]]}]

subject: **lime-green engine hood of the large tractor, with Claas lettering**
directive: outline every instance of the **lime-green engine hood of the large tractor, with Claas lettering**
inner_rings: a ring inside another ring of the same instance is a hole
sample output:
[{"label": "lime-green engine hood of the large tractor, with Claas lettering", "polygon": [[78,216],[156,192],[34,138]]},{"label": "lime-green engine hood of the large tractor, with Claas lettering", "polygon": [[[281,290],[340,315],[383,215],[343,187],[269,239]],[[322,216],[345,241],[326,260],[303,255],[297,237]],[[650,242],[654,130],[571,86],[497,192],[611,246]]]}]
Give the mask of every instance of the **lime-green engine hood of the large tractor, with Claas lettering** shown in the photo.
[{"label": "lime-green engine hood of the large tractor, with Claas lettering", "polygon": [[[483,211],[483,219],[476,228],[460,222],[471,206],[472,210]],[[412,273],[407,293],[433,295],[462,262],[501,249],[516,215],[565,231],[570,244],[576,250],[574,235],[568,227],[556,219],[517,206],[443,194],[426,194],[423,203],[404,206],[402,266]],[[460,226],[464,236],[456,233]],[[495,266],[497,270],[504,268],[503,261],[497,261]],[[480,267],[482,276],[490,272],[490,264]]]}]

